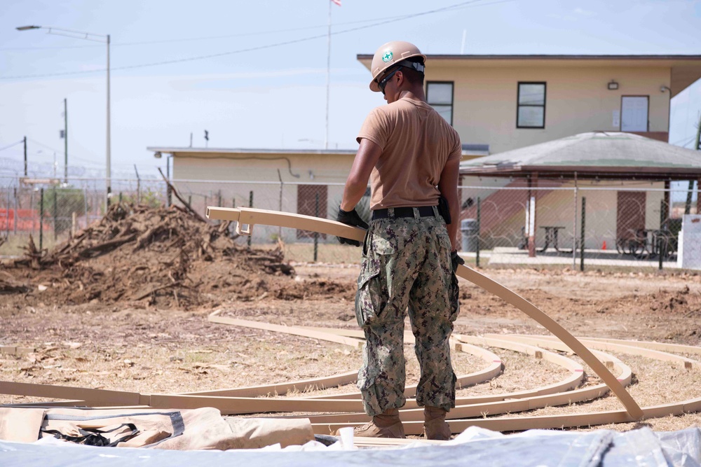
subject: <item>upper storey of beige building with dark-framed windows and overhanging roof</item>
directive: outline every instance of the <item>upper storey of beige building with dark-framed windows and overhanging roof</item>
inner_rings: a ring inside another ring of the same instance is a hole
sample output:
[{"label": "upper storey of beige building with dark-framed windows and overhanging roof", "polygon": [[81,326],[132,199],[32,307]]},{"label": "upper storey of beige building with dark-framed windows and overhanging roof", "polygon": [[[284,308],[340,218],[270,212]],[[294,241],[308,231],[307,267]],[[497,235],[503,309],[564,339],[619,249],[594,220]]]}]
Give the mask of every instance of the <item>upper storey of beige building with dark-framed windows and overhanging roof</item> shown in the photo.
[{"label": "upper storey of beige building with dark-framed windows and overhanging roof", "polygon": [[592,131],[666,142],[669,101],[698,78],[701,55],[428,55],[426,96],[494,154]]}]

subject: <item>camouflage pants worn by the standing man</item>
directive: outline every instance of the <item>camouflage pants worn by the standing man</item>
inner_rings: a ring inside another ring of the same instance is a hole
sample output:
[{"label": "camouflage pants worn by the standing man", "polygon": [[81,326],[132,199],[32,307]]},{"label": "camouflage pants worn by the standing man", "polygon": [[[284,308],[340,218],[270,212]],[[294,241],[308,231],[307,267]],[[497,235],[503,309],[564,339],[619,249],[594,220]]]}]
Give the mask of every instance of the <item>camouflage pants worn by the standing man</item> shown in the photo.
[{"label": "camouflage pants worn by the standing man", "polygon": [[[416,214],[416,213],[415,213]],[[418,405],[455,407],[448,339],[458,314],[450,239],[440,216],[372,221],[365,237],[355,315],[365,331],[358,389],[370,416],[404,405],[404,317],[409,309],[421,367]],[[453,293],[454,292],[454,293]]]}]

